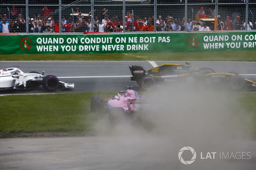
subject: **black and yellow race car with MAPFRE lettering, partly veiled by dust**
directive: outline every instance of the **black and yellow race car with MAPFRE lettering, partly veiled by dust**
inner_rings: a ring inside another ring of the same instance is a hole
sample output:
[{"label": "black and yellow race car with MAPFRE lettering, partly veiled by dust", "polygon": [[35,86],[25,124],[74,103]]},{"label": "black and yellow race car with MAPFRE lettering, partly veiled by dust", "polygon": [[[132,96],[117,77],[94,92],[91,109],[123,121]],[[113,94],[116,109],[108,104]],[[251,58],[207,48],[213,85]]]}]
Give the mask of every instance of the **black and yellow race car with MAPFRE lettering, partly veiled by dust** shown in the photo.
[{"label": "black and yellow race car with MAPFRE lettering, partly veiled by dust", "polygon": [[131,80],[144,90],[151,90],[156,85],[169,82],[179,85],[203,85],[206,88],[227,88],[240,91],[244,88],[256,89],[256,83],[243,78],[238,73],[231,71],[228,73],[216,73],[210,68],[198,68],[189,70],[190,62],[185,64],[163,64],[148,71],[141,66],[132,66]]}]

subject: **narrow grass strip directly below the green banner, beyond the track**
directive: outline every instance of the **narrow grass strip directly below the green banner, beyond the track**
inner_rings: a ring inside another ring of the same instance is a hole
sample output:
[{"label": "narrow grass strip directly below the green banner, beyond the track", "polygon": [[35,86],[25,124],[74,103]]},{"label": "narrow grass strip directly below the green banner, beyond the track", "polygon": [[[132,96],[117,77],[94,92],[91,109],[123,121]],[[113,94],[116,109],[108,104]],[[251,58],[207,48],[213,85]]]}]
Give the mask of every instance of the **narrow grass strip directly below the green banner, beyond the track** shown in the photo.
[{"label": "narrow grass strip directly below the green banner, beyond the track", "polygon": [[0,61],[256,61],[256,51],[0,55]]}]

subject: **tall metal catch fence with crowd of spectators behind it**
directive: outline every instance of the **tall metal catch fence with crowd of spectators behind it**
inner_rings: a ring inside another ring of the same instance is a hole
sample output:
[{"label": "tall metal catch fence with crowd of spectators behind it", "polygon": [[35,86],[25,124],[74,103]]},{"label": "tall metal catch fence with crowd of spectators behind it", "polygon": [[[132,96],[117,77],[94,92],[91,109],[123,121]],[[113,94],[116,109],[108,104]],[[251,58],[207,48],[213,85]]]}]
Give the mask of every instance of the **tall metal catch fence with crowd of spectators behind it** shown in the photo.
[{"label": "tall metal catch fence with crowd of spectators behind it", "polygon": [[212,31],[256,29],[255,0],[1,0],[0,12],[10,33],[188,32],[204,23]]}]

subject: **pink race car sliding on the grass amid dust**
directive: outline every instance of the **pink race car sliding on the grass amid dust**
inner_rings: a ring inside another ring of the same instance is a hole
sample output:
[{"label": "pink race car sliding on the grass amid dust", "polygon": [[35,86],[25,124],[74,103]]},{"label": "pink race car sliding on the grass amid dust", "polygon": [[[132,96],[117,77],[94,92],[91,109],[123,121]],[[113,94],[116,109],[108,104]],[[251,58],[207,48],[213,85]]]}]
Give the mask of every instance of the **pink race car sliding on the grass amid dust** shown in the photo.
[{"label": "pink race car sliding on the grass amid dust", "polygon": [[107,112],[124,112],[132,113],[142,107],[145,102],[136,91],[131,90],[133,86],[126,86],[129,88],[126,91],[118,92],[117,96],[111,95],[110,99],[103,100],[100,95],[93,95],[90,103],[90,110],[92,112],[107,111]]}]

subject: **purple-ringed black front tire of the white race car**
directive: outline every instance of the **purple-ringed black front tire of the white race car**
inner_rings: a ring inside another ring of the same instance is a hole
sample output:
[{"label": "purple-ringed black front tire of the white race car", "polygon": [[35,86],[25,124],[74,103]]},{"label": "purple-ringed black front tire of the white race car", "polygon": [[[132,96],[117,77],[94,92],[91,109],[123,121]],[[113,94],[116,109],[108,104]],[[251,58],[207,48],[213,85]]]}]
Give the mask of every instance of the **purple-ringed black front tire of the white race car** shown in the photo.
[{"label": "purple-ringed black front tire of the white race car", "polygon": [[58,88],[59,80],[56,76],[48,75],[44,77],[42,85],[44,87],[44,90],[48,92],[53,92]]}]

